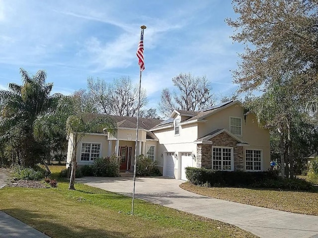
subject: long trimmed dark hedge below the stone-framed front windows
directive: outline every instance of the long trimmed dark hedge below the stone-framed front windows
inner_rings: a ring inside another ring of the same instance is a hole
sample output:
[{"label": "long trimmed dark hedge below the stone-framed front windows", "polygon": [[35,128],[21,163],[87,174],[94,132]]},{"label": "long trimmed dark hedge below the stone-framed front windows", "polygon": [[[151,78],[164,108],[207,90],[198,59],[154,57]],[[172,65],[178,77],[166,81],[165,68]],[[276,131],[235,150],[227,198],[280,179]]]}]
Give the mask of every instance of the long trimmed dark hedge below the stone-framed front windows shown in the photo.
[{"label": "long trimmed dark hedge below the stone-framed front windows", "polygon": [[304,179],[282,179],[277,171],[242,172],[216,171],[204,168],[185,168],[186,178],[195,185],[205,186],[248,186],[311,190],[313,184]]}]

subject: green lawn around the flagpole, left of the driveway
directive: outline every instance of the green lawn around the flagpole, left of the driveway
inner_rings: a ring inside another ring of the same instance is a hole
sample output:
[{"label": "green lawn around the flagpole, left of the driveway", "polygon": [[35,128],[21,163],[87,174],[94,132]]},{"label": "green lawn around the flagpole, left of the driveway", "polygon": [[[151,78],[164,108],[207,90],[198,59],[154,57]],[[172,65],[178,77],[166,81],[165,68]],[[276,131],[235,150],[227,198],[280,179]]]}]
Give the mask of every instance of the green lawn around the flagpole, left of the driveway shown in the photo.
[{"label": "green lawn around the flagpole, left of the driveway", "polygon": [[[50,167],[56,176],[63,167]],[[57,188],[4,187],[0,210],[50,237],[186,238],[255,237],[239,228],[84,184],[68,190],[60,179]]]}]

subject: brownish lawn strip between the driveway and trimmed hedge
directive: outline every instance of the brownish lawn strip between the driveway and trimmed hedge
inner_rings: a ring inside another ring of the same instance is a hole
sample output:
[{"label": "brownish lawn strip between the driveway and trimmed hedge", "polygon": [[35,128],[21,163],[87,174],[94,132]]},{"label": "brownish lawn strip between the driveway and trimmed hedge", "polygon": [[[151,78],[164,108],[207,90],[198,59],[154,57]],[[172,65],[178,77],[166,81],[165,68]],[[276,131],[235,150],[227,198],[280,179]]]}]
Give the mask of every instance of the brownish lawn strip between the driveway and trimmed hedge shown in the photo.
[{"label": "brownish lawn strip between the driveway and trimmed hedge", "polygon": [[184,190],[222,200],[266,207],[280,211],[318,216],[318,192],[280,191],[260,188],[201,187],[189,182]]}]

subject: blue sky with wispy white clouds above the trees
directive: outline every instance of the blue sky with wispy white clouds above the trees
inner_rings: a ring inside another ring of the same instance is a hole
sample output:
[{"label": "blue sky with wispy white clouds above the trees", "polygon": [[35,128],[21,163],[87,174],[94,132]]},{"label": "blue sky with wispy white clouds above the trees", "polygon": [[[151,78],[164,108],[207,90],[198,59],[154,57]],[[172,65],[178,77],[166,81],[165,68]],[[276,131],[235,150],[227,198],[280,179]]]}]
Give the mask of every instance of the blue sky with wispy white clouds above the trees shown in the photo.
[{"label": "blue sky with wispy white clouds above the trees", "polygon": [[139,80],[136,50],[146,25],[142,87],[150,107],[180,72],[206,75],[213,91],[237,89],[230,70],[242,46],[224,19],[230,0],[0,0],[0,89],[21,83],[19,68],[45,69],[54,92],[86,88],[87,77]]}]

